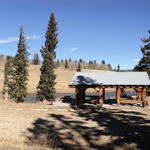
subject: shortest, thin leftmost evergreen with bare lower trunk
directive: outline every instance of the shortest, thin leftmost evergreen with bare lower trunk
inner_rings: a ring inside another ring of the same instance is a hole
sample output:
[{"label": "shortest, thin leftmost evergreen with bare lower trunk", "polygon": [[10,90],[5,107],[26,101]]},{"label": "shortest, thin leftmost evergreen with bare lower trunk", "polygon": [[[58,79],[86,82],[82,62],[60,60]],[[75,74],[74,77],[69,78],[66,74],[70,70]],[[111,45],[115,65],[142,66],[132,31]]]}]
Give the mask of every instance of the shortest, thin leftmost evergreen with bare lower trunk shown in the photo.
[{"label": "shortest, thin leftmost evergreen with bare lower trunk", "polygon": [[2,93],[5,94],[5,100],[8,100],[8,94],[11,91],[12,75],[13,75],[13,57],[7,56],[4,66],[4,87]]}]

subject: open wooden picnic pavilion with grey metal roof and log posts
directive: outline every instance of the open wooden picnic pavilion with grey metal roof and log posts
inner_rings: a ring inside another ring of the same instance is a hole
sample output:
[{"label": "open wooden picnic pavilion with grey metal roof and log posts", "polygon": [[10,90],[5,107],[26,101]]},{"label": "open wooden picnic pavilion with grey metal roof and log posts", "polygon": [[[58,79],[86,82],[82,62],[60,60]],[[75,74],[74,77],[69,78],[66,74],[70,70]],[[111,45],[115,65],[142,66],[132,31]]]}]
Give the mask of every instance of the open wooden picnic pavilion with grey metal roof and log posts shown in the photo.
[{"label": "open wooden picnic pavilion with grey metal roof and log posts", "polygon": [[75,104],[85,100],[85,91],[93,88],[99,93],[100,105],[105,100],[105,89],[116,89],[117,105],[121,103],[121,91],[132,88],[136,91],[136,100],[145,106],[146,89],[150,88],[150,80],[146,72],[76,72],[69,88],[75,88]]}]

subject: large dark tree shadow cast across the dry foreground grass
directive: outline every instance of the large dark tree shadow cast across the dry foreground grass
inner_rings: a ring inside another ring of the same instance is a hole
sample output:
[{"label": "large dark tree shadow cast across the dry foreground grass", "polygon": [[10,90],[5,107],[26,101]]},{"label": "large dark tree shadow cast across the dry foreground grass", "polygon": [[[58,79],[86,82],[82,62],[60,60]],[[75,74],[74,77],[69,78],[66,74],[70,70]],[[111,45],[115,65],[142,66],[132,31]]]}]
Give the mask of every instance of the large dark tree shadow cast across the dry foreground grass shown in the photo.
[{"label": "large dark tree shadow cast across the dry foreground grass", "polygon": [[[140,112],[88,107],[37,119],[26,144],[69,149],[150,149],[150,120]],[[93,125],[94,124],[94,125]]]}]

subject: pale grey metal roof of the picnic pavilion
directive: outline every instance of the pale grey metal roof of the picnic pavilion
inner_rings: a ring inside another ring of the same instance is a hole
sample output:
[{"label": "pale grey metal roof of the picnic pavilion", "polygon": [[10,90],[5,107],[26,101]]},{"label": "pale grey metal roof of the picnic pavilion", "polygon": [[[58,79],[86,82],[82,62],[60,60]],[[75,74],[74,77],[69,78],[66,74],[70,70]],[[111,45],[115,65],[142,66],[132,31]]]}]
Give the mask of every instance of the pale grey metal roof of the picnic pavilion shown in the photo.
[{"label": "pale grey metal roof of the picnic pavilion", "polygon": [[150,85],[147,72],[76,72],[71,85]]}]

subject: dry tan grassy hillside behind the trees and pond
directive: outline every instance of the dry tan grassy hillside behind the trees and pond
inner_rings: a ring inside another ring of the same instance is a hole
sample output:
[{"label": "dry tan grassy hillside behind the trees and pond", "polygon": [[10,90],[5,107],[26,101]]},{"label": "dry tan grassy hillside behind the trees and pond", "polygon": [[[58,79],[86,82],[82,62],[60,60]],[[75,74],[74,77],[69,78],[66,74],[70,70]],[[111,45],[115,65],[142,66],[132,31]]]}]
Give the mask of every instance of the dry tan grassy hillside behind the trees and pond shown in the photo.
[{"label": "dry tan grassy hillside behind the trees and pond", "polygon": [[[28,67],[29,70],[29,82],[28,82],[28,92],[35,93],[36,86],[39,81],[40,77],[40,65],[30,65]],[[57,68],[55,69],[55,73],[57,75],[56,78],[56,91],[57,93],[70,93],[74,92],[74,89],[68,88],[68,85],[71,83],[72,77],[76,72],[75,69],[64,69],[64,68]],[[88,70],[82,69],[82,72],[102,72],[102,70]],[[105,71],[106,72],[106,71]],[[3,81],[4,81],[4,64],[0,64],[0,91],[3,88]]]}]

